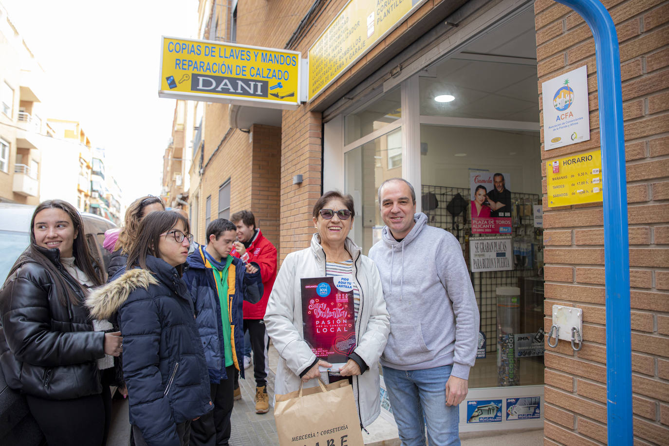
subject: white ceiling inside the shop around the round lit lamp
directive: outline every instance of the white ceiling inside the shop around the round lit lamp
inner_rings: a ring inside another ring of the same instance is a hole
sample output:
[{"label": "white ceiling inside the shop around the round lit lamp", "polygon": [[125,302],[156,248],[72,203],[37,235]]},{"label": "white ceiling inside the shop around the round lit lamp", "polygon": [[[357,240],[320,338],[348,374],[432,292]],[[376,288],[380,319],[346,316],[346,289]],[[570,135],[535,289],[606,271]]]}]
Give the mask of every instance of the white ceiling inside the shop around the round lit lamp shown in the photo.
[{"label": "white ceiling inside the shop around the round lit lamp", "polygon": [[[439,94],[455,100],[439,103]],[[420,74],[421,115],[539,122],[532,9]]]}]

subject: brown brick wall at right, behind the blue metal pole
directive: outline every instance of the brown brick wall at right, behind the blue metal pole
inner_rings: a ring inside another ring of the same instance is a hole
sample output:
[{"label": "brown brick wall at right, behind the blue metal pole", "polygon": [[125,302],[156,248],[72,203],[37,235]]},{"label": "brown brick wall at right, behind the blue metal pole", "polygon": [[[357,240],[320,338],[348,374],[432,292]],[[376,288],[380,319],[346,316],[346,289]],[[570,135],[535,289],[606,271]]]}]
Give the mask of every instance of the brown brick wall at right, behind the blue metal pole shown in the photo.
[{"label": "brown brick wall at right, behind the blue metal pole", "polygon": [[[669,444],[669,3],[603,3],[622,64],[634,444]],[[539,94],[546,80],[583,65],[588,73],[591,139],[547,152],[542,145],[545,178],[545,161],[599,148],[597,75],[592,33],[579,15],[552,0],[536,1],[535,15]],[[599,445],[607,441],[603,211],[601,204],[544,211],[545,328],[553,304],[576,306],[584,340],[577,353],[564,341],[547,346],[545,444]]]}]

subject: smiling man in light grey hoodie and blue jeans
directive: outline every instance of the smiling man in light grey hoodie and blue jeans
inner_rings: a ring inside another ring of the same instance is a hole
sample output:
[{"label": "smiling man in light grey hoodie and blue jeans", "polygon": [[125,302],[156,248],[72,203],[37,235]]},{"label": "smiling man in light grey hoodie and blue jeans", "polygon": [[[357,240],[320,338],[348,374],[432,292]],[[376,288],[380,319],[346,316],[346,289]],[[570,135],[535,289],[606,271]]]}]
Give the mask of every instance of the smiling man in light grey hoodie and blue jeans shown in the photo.
[{"label": "smiling man in light grey hoodie and blue jeans", "polygon": [[385,223],[369,251],[383,284],[390,336],[383,379],[403,446],[459,445],[458,405],[476,358],[479,316],[458,239],[415,213],[413,187],[389,179],[379,187]]}]

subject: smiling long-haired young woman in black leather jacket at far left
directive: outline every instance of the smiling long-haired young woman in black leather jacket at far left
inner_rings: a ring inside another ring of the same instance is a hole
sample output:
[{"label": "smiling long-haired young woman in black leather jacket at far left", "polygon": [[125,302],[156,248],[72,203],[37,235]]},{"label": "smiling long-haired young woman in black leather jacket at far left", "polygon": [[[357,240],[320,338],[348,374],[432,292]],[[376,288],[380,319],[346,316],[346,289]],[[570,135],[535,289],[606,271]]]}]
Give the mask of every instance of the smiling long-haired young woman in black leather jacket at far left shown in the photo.
[{"label": "smiling long-haired young woman in black leather jacket at far left", "polygon": [[88,288],[105,280],[76,209],[61,200],[37,206],[30,245],[0,290],[7,340],[0,366],[7,384],[25,393],[50,445],[106,442],[111,403],[98,360],[118,356],[122,338],[119,332],[93,331],[84,306]]}]

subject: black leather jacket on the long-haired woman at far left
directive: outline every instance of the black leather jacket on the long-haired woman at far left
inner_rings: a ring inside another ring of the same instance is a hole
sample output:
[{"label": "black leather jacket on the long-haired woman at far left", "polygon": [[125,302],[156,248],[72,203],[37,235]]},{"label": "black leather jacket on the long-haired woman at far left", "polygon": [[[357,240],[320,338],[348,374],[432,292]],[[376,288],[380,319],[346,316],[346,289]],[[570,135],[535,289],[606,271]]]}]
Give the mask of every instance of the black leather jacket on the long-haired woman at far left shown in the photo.
[{"label": "black leather jacket on the long-haired woman at far left", "polygon": [[23,263],[0,290],[4,337],[0,366],[7,384],[46,399],[72,399],[102,392],[96,360],[104,356],[104,332],[94,332],[84,295],[60,263],[58,249],[39,249],[76,291],[82,305],[56,296],[52,272],[25,251]]}]

